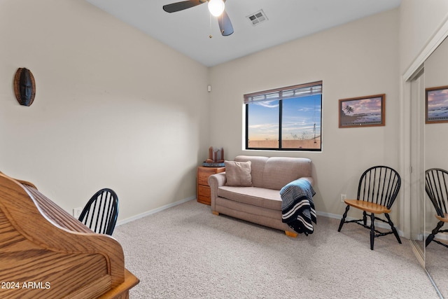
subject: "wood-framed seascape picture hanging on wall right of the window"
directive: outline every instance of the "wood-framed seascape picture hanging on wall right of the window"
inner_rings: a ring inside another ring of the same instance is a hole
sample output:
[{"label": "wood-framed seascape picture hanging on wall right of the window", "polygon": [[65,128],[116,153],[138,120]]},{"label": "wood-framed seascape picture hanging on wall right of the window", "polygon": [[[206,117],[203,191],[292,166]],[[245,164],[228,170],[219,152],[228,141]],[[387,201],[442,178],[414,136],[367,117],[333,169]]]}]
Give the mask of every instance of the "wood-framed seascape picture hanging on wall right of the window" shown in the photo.
[{"label": "wood-framed seascape picture hanging on wall right of the window", "polygon": [[386,95],[339,99],[339,127],[385,125]]}]

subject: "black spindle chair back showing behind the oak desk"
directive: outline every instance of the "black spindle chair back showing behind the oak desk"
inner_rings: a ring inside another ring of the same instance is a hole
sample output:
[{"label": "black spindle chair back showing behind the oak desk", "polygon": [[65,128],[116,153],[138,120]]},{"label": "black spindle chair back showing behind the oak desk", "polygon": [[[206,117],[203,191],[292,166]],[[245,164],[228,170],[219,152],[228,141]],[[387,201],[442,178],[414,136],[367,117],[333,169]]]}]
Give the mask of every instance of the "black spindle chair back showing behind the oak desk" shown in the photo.
[{"label": "black spindle chair back showing behind the oak desk", "polygon": [[85,204],[78,220],[99,234],[112,235],[118,218],[118,196],[104,188]]}]

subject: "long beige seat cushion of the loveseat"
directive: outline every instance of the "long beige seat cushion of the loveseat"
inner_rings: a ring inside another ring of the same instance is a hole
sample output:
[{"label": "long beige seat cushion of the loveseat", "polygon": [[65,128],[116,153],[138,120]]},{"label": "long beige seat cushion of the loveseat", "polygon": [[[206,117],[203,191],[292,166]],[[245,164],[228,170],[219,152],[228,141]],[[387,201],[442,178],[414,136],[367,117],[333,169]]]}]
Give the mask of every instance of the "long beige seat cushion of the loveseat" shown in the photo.
[{"label": "long beige seat cushion of the loveseat", "polygon": [[221,186],[218,188],[218,197],[281,211],[281,197],[279,190],[257,187]]}]

